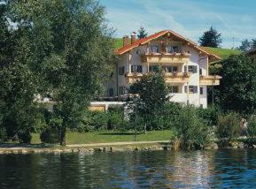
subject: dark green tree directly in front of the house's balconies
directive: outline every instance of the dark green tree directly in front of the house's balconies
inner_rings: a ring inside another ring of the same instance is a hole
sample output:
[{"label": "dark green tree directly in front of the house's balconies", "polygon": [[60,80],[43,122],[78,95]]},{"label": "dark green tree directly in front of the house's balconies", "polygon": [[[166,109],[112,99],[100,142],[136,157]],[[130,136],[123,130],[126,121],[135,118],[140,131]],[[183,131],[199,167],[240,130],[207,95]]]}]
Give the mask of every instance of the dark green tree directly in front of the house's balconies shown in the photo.
[{"label": "dark green tree directly in front of the house's balconies", "polygon": [[157,117],[169,101],[169,91],[163,73],[159,70],[145,74],[140,81],[130,87],[129,93],[139,95],[137,111],[144,118],[147,127],[156,126],[151,122],[153,117]]}]

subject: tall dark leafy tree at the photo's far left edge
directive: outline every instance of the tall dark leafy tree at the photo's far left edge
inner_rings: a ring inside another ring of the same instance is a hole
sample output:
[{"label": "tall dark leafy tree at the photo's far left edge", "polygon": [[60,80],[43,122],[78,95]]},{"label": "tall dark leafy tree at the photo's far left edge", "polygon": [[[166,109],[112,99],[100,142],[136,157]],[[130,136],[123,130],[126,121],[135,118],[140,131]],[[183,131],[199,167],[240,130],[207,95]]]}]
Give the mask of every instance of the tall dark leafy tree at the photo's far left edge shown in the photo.
[{"label": "tall dark leafy tree at the photo's far left edge", "polygon": [[7,4],[0,4],[0,129],[9,139],[29,143],[37,114],[36,79],[27,64],[27,28],[10,26],[9,13]]}]

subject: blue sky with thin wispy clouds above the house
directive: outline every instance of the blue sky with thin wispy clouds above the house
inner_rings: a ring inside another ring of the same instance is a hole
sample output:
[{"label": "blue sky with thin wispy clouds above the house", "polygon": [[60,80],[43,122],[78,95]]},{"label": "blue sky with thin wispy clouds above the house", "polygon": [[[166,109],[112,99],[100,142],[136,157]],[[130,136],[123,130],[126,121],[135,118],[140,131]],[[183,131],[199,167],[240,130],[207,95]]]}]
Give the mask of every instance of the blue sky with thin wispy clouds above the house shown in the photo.
[{"label": "blue sky with thin wispy clouds above the house", "polygon": [[213,26],[222,36],[222,48],[238,47],[256,38],[256,0],[99,0],[105,6],[115,37],[171,29],[193,42]]}]

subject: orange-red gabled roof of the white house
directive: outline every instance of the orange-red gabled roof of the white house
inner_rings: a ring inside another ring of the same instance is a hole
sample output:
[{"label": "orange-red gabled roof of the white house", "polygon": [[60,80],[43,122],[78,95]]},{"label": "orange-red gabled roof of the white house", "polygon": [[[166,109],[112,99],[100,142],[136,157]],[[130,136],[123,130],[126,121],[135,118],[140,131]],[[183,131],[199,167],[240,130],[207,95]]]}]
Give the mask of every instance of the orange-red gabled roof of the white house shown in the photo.
[{"label": "orange-red gabled roof of the white house", "polygon": [[184,38],[182,35],[177,34],[177,33],[175,33],[175,32],[172,31],[172,30],[160,31],[159,33],[152,34],[152,35],[150,35],[150,36],[148,36],[148,37],[145,37],[145,38],[143,38],[143,39],[141,39],[141,40],[138,40],[138,41],[136,41],[136,42],[134,42],[134,43],[132,43],[132,44],[128,44],[128,45],[126,45],[126,46],[124,46],[124,47],[122,47],[122,48],[120,48],[120,49],[117,49],[116,52],[115,52],[115,54],[116,54],[116,55],[123,55],[123,54],[127,53],[127,52],[128,52],[129,50],[131,50],[131,49],[134,49],[134,48],[136,48],[136,47],[138,47],[138,46],[140,46],[140,45],[144,45],[144,44],[146,44],[147,42],[151,42],[152,40],[155,40],[155,39],[159,38],[160,36],[163,36],[163,35],[168,34],[168,33],[169,33],[169,34],[172,34],[173,36],[175,36],[176,38],[178,38],[179,40],[181,40],[181,41],[183,41],[183,42],[188,42],[188,43],[190,43],[190,46],[191,46],[191,47],[193,47],[193,48],[195,48],[195,49],[198,49],[199,51],[205,53],[206,55],[208,55],[208,56],[210,56],[210,57],[213,57],[213,59],[221,60],[221,57],[218,57],[218,56],[216,56],[216,55],[213,55],[213,53],[210,53],[210,52],[206,51],[206,49],[203,49],[203,48],[199,47],[197,43],[192,42],[192,41],[190,41],[190,40],[187,39],[187,38]]}]

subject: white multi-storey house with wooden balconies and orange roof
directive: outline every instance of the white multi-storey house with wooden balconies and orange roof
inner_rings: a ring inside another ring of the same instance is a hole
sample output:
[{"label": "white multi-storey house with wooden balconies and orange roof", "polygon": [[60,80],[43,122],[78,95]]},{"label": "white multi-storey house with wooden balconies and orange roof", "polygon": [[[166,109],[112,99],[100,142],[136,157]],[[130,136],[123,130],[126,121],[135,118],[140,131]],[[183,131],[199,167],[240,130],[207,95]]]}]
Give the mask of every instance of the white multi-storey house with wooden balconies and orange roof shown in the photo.
[{"label": "white multi-storey house with wooden balconies and orange roof", "polygon": [[165,71],[171,101],[207,107],[207,87],[220,84],[220,76],[209,75],[209,63],[220,60],[195,42],[171,30],[141,40],[136,34],[123,38],[116,52],[118,62],[107,85],[107,95],[125,98],[128,88],[157,66]]}]

